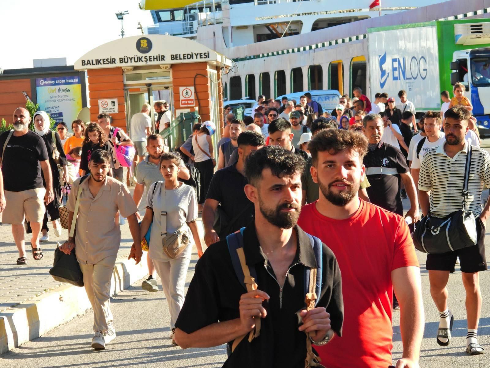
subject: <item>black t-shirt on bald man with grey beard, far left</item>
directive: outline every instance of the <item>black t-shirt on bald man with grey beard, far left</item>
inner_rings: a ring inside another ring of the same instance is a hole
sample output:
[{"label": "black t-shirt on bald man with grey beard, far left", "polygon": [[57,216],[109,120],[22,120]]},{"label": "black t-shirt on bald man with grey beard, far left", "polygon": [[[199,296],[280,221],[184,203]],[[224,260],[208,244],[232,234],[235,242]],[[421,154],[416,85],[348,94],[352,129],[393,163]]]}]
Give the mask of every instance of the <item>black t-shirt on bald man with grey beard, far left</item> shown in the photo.
[{"label": "black t-shirt on bald man with grey beard, far left", "polygon": [[[0,135],[0,155],[9,131]],[[46,144],[33,131],[16,137],[12,135],[5,147],[5,158],[2,157],[1,172],[3,188],[11,192],[43,188],[41,164],[48,159]],[[0,156],[1,157],[1,156]]]}]

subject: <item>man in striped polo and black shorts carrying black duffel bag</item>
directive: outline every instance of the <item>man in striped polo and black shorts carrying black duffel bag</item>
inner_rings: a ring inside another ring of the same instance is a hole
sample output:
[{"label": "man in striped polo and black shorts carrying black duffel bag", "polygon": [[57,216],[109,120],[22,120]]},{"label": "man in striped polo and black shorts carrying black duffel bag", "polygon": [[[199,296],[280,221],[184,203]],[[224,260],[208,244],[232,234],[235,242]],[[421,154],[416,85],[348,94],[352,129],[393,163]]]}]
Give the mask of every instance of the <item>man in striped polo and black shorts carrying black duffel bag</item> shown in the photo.
[{"label": "man in striped polo and black shorts carrying black duffel bag", "polygon": [[418,198],[424,218],[414,242],[419,250],[429,253],[426,269],[432,299],[441,317],[436,337],[441,346],[449,345],[451,340],[454,317],[447,306],[446,284],[459,257],[466,289],[466,353],[477,355],[485,352],[477,340],[482,304],[478,272],[487,269],[485,228],[490,202],[482,210],[480,198],[484,185],[490,187],[490,155],[466,142],[469,117],[465,108],[448,109],[444,113],[446,141],[423,157]]}]

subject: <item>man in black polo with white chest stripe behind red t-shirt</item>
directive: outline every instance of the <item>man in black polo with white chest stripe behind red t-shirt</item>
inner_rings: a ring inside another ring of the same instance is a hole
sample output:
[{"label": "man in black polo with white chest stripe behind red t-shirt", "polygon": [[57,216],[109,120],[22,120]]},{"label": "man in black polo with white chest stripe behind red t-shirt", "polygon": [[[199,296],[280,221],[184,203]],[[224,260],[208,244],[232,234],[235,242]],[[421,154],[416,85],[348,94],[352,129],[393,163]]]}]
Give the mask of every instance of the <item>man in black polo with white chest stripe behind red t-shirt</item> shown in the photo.
[{"label": "man in black polo with white chest stripe behind red t-shirt", "polygon": [[380,115],[369,114],[363,123],[364,134],[369,141],[368,154],[363,163],[371,184],[367,188],[371,203],[403,216],[400,195],[400,182],[403,182],[411,205],[406,217],[410,216],[415,222],[420,218],[417,191],[405,156],[398,148],[381,142],[384,124]]}]

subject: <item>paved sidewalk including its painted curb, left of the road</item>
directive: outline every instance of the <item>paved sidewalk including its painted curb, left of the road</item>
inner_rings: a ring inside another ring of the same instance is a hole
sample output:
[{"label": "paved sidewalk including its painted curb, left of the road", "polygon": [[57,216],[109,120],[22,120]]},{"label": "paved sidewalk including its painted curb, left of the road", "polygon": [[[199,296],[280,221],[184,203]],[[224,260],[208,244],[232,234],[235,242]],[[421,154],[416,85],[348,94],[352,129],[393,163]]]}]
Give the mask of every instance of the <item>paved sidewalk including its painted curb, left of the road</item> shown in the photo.
[{"label": "paved sidewalk including its painted curb, left of the road", "polygon": [[[144,203],[140,206],[143,214],[142,208]],[[202,235],[201,224],[198,221]],[[51,229],[50,223],[48,227]],[[49,232],[49,241],[41,243],[44,257],[40,261],[32,258],[30,236],[25,238],[27,264],[17,265],[19,252],[13,241],[11,225],[0,226],[0,355],[91,308],[84,288],[56,282],[49,275],[56,242],[63,243],[68,238],[68,230],[63,230],[60,237]],[[121,246],[112,276],[111,295],[127,289],[147,275],[146,253],[138,265],[134,260],[127,260],[132,243],[126,223],[121,226]],[[193,252],[196,253],[196,249]]]}]

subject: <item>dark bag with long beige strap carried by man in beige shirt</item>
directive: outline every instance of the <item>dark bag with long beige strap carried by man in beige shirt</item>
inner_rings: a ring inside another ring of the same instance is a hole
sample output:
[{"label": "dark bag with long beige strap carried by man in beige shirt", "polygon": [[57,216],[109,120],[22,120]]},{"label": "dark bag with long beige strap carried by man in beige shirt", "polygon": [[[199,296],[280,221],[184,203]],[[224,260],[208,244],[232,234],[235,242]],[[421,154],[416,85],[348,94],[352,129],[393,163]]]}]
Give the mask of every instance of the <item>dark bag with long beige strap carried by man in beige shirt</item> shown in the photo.
[{"label": "dark bag with long beige strap carried by man in beige shirt", "polygon": [[[90,174],[89,174],[90,175]],[[78,215],[78,207],[80,205],[80,194],[82,193],[82,182],[89,176],[85,175],[80,179],[78,186],[78,194],[76,196],[75,210],[73,211],[72,226],[70,228],[70,237],[75,234],[76,216]],[[75,252],[65,254],[57,247],[54,250],[53,266],[49,270],[49,274],[56,281],[72,284],[74,286],[83,287],[83,273],[80,265],[76,260]]]}]

